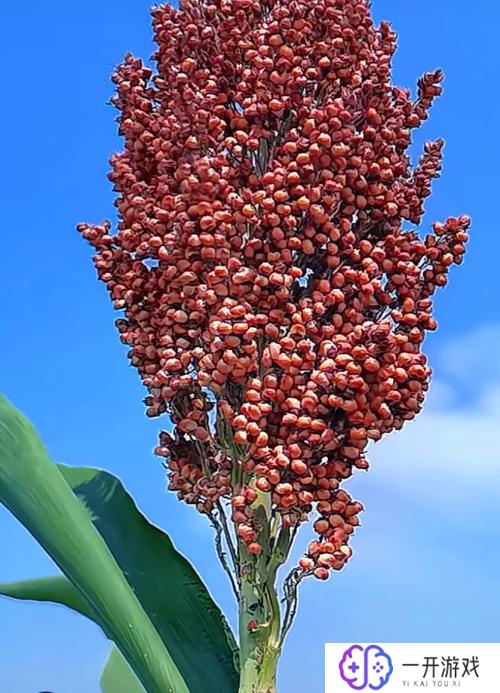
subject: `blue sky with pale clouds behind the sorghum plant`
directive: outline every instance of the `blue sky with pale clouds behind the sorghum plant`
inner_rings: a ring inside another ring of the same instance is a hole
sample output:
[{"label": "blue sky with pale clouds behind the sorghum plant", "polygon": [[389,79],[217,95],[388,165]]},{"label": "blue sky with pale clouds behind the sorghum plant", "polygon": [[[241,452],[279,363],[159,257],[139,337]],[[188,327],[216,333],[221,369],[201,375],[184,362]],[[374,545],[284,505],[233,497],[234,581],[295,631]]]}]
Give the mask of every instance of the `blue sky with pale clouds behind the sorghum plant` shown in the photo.
[{"label": "blue sky with pale clouds behind the sorghum plant", "polygon": [[[106,105],[126,51],[152,52],[149,0],[0,0],[3,21],[0,389],[53,457],[119,474],[141,508],[196,564],[228,614],[211,531],[164,492],[146,420],[79,221],[112,214]],[[500,311],[496,219],[500,107],[496,0],[374,0],[400,36],[396,82],[442,67],[446,92],[421,140],[447,141],[427,223],[468,213],[467,261],[437,300],[427,343],[436,378],[424,414],[380,443],[350,488],[366,505],[347,570],[310,582],[287,644],[280,693],[323,689],[325,641],[500,641]],[[0,580],[53,572],[0,509]],[[306,537],[303,537],[303,541]],[[98,693],[108,643],[52,606],[0,601],[0,690]]]}]

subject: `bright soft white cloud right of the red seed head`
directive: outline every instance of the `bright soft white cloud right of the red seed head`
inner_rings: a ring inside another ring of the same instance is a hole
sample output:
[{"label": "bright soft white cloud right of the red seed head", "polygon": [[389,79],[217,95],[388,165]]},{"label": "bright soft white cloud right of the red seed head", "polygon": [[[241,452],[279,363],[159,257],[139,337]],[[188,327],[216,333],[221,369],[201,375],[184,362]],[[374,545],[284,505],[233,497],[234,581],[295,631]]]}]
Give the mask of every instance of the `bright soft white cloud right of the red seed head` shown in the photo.
[{"label": "bright soft white cloud right of the red seed head", "polygon": [[432,504],[500,498],[499,346],[500,325],[488,325],[438,353],[423,412],[373,446],[354,493],[370,496],[382,483]]}]

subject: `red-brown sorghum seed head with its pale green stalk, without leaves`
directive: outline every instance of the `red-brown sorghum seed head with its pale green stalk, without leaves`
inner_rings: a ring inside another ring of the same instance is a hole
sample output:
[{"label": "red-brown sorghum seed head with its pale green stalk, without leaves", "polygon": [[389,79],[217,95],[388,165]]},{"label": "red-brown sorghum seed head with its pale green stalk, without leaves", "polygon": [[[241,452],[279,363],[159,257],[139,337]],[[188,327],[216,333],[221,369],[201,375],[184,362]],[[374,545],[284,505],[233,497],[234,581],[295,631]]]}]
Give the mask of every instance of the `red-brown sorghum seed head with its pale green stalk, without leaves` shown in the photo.
[{"label": "red-brown sorghum seed head with its pale green stalk, without leaves", "polygon": [[241,693],[275,690],[300,582],[351,556],[362,505],[342,484],[420,411],[432,296],[468,238],[467,217],[417,231],[443,141],[415,166],[408,149],[443,74],[394,86],[396,36],[369,5],[155,7],[155,71],[127,55],[114,76],[117,230],[79,227],[147,414],[170,418],[170,488],[215,527]]}]

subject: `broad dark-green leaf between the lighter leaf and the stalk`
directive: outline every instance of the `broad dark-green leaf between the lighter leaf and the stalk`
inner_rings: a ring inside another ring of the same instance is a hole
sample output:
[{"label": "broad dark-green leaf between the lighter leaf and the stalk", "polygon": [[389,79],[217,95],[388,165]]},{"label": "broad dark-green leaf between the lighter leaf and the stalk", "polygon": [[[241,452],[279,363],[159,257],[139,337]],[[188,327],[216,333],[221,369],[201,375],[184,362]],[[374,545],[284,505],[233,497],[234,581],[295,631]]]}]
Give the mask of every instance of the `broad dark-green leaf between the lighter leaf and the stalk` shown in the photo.
[{"label": "broad dark-green leaf between the lighter leaf and the stalk", "polygon": [[59,469],[111,549],[190,693],[235,693],[238,648],[207,588],[123,484],[88,467]]}]

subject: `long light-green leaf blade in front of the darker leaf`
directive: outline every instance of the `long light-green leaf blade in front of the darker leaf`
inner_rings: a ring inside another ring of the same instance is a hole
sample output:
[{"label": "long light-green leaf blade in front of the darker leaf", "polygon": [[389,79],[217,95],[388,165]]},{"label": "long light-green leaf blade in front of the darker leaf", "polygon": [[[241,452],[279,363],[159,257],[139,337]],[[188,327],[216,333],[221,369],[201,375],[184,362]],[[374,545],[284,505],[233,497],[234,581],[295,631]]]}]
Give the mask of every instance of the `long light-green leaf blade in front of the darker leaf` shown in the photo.
[{"label": "long light-green leaf blade in front of the darker leaf", "polygon": [[189,693],[91,514],[29,421],[0,397],[0,502],[80,591],[149,693]]}]

